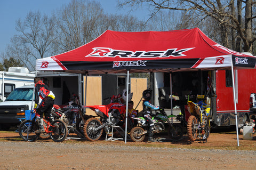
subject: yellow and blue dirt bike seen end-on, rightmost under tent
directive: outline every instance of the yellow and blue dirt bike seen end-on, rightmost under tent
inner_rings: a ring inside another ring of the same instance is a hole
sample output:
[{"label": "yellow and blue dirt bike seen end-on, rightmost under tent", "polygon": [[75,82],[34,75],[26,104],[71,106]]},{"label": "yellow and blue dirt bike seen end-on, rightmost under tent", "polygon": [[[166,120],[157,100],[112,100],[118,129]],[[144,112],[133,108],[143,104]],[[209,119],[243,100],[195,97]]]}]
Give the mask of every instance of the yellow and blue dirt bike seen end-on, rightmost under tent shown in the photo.
[{"label": "yellow and blue dirt bike seen end-on, rightmost under tent", "polygon": [[[198,99],[204,99],[204,95],[198,95]],[[210,135],[210,107],[203,101],[197,103],[188,101],[188,111],[191,114],[187,121],[188,140],[194,142],[196,138],[207,142]]]}]

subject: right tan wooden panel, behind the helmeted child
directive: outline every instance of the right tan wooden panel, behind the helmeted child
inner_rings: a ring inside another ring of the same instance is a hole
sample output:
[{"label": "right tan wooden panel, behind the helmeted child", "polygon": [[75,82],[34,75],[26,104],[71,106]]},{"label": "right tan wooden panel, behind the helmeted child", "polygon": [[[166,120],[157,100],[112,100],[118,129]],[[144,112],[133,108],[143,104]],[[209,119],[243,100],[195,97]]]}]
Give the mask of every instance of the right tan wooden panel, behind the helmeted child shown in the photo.
[{"label": "right tan wooden panel, behind the helmeted child", "polygon": [[[142,111],[142,92],[147,89],[147,78],[131,78],[131,92],[133,93],[132,101],[134,102],[134,109]],[[141,100],[141,101],[140,101]]]}]

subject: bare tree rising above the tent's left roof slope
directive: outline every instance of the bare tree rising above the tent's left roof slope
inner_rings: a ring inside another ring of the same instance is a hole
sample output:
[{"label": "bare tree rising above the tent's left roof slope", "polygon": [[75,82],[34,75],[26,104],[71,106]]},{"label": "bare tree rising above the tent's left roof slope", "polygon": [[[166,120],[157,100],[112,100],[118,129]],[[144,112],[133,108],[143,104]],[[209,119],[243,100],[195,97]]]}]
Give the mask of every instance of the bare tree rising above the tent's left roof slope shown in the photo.
[{"label": "bare tree rising above the tent's left roof slope", "polygon": [[92,41],[102,32],[97,27],[106,16],[95,1],[73,0],[58,12],[58,39],[55,52],[73,50]]}]

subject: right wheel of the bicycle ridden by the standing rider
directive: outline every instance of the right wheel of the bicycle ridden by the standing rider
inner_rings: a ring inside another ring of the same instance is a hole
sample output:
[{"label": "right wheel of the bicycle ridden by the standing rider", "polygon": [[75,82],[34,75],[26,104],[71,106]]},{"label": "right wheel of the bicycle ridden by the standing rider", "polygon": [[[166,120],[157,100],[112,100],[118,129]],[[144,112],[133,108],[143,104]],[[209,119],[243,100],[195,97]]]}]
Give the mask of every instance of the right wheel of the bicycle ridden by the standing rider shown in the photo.
[{"label": "right wheel of the bicycle ridden by the standing rider", "polygon": [[62,142],[68,135],[67,125],[62,120],[54,120],[49,128],[51,139],[54,142]]}]

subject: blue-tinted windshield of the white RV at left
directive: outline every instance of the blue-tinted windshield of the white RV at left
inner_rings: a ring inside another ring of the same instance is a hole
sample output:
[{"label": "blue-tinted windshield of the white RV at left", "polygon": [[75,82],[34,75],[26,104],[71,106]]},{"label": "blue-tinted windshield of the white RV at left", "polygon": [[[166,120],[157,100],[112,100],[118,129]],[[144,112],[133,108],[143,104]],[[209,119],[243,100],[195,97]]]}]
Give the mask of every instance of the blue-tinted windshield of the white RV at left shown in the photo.
[{"label": "blue-tinted windshield of the white RV at left", "polygon": [[33,88],[15,88],[5,101],[32,101]]}]

